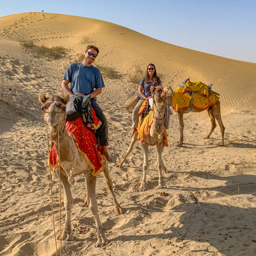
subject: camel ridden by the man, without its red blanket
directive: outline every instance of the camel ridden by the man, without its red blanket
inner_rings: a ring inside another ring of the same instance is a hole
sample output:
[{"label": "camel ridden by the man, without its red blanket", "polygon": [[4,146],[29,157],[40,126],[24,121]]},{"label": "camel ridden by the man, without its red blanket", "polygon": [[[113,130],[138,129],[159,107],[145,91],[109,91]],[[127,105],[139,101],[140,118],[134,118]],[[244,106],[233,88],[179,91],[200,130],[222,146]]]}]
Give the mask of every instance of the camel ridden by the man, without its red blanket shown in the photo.
[{"label": "camel ridden by the man, without its red blanket", "polygon": [[[63,233],[60,237],[61,240],[73,241],[74,237],[71,228],[71,209],[73,207],[73,197],[70,190],[70,183],[68,175],[71,170],[75,175],[84,173],[87,187],[87,196],[85,204],[88,203],[88,207],[93,214],[96,222],[98,240],[96,247],[103,246],[109,243],[105,236],[98,216],[98,204],[96,199],[96,176],[92,175],[92,169],[89,167],[85,158],[79,154],[73,137],[70,136],[65,129],[66,121],[66,104],[69,102],[69,95],[61,98],[58,95],[51,95],[46,97],[43,94],[39,94],[39,101],[43,104],[42,111],[44,112],[44,121],[49,125],[49,136],[51,141],[56,147],[56,153],[58,159],[60,159],[60,170],[57,168],[55,171],[59,176],[64,188],[64,207],[66,210],[66,219]],[[115,213],[123,213],[122,207],[118,204],[112,188],[112,181],[110,179],[108,162],[104,159],[104,174],[111,194],[114,199]]]}]

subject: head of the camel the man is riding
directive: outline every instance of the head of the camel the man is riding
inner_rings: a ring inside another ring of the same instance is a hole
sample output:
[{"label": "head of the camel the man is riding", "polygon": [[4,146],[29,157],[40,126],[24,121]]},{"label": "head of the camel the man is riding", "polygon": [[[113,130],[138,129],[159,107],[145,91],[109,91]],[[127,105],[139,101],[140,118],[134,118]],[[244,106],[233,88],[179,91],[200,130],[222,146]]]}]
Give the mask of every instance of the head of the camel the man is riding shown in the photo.
[{"label": "head of the camel the man is riding", "polygon": [[61,98],[59,95],[39,94],[39,101],[43,104],[41,109],[44,112],[44,121],[49,126],[65,125],[66,104],[69,102],[69,95]]}]

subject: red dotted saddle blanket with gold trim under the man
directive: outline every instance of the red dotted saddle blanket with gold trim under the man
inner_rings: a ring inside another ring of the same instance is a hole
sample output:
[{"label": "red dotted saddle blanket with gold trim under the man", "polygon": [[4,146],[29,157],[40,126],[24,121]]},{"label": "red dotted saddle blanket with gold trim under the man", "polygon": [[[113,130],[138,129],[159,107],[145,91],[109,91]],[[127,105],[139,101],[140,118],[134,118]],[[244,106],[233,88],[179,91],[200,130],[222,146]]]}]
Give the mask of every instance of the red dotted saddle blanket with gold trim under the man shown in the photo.
[{"label": "red dotted saddle blanket with gold trim under the man", "polygon": [[[96,117],[94,110],[92,113],[94,123],[98,126],[100,121]],[[101,171],[103,171],[103,163],[99,153],[101,147],[98,146],[97,148],[97,139],[94,132],[85,126],[81,117],[66,122],[65,127],[67,132],[72,134],[78,152],[85,158],[86,163],[91,167],[92,175],[97,176]],[[49,164],[53,170],[58,167],[55,145],[52,146],[50,152]]]}]

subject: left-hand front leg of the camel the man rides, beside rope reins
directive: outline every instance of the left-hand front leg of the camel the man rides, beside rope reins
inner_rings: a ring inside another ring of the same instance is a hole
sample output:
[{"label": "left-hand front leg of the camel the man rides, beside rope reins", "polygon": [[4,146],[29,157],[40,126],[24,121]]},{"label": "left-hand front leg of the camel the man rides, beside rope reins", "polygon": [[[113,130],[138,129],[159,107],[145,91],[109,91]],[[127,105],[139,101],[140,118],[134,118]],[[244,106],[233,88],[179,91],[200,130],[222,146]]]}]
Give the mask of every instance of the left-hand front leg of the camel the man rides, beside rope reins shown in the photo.
[{"label": "left-hand front leg of the camel the man rides, beside rope reins", "polygon": [[[55,172],[59,177],[59,168],[57,168]],[[64,207],[66,210],[65,226],[61,234],[61,240],[73,241],[74,237],[71,229],[71,209],[73,207],[73,198],[70,190],[70,184],[68,182],[68,176],[62,168],[61,168],[61,183],[64,189]]]}]

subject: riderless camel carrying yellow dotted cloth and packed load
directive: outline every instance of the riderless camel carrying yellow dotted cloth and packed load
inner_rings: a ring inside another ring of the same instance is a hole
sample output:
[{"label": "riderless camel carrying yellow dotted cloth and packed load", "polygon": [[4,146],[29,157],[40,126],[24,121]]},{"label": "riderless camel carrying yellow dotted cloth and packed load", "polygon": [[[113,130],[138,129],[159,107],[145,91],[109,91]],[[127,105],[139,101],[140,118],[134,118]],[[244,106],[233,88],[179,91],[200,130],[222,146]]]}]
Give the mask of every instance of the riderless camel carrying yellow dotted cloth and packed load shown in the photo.
[{"label": "riderless camel carrying yellow dotted cloth and packed load", "polygon": [[211,90],[211,85],[205,85],[202,82],[190,82],[189,78],[184,80],[182,85],[174,90],[172,95],[172,108],[178,113],[179,117],[179,130],[180,130],[180,140],[178,141],[178,146],[183,146],[183,114],[189,112],[202,112],[207,110],[208,115],[211,120],[211,130],[209,134],[204,137],[208,139],[214,129],[216,128],[217,119],[220,127],[220,132],[222,140],[220,146],[224,146],[224,131],[225,127],[221,120],[220,114],[220,102],[219,95]]}]

